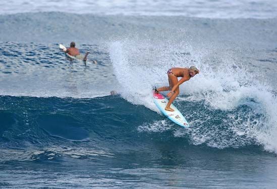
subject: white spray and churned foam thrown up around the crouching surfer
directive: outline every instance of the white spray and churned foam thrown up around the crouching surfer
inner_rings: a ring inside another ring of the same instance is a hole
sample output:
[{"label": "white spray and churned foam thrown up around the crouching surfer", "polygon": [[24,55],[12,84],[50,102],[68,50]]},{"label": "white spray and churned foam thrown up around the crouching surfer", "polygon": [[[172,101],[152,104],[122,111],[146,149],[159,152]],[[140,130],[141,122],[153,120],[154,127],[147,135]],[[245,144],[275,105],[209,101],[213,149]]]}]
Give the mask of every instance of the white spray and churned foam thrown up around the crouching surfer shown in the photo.
[{"label": "white spray and churned foam thrown up around the crouching surfer", "polygon": [[[114,41],[109,51],[122,97],[155,111],[151,88],[157,82],[168,85],[167,69],[192,64],[200,68],[199,75],[180,86],[181,95],[175,101],[181,112],[186,109],[183,113],[193,127],[175,136],[189,135],[194,145],[219,149],[262,145],[277,153],[276,96],[236,51],[135,38]],[[193,106],[199,110],[193,111]],[[139,130],[162,131],[160,127],[163,124],[148,123]]]}]

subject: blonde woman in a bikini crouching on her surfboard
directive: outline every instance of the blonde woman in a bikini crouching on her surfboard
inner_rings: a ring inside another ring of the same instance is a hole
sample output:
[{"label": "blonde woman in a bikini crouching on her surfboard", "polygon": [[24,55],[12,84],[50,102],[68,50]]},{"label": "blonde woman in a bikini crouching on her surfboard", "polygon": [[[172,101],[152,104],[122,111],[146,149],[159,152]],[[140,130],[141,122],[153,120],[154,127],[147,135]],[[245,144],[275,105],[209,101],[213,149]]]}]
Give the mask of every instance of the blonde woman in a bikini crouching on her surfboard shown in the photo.
[{"label": "blonde woman in a bikini crouching on her surfboard", "polygon": [[[195,66],[191,66],[190,68],[171,68],[168,70],[168,77],[169,77],[169,85],[170,86],[163,86],[160,88],[155,89],[155,92],[170,90],[167,96],[170,98],[169,103],[164,108],[164,110],[173,112],[174,109],[170,107],[176,97],[179,95],[179,85],[183,82],[190,80],[191,77],[194,77],[196,74],[199,73],[199,70]],[[178,77],[182,77],[178,81]]]}]

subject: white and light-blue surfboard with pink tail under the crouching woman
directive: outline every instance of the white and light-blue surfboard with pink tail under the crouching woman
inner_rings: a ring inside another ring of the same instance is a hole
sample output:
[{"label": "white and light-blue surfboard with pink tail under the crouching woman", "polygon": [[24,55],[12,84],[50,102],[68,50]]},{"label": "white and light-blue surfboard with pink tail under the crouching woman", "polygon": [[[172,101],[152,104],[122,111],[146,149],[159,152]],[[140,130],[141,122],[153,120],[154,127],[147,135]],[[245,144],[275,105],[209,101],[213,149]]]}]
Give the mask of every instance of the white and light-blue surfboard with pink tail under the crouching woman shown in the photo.
[{"label": "white and light-blue surfboard with pink tail under the crouching woman", "polygon": [[164,110],[165,106],[167,106],[169,100],[165,98],[161,93],[153,92],[153,101],[161,113],[167,116],[171,121],[174,123],[182,126],[182,127],[189,127],[189,124],[186,118],[181,114],[181,112],[171,104],[171,108],[174,109],[174,112]]}]

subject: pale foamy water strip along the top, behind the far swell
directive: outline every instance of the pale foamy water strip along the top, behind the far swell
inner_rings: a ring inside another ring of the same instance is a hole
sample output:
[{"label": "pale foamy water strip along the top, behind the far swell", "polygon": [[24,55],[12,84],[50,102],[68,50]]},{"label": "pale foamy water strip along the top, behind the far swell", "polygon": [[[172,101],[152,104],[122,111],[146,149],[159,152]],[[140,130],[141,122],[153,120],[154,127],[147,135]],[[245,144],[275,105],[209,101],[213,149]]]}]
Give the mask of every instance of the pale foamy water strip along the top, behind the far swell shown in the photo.
[{"label": "pale foamy water strip along the top, behind the far swell", "polygon": [[0,14],[67,12],[101,15],[186,16],[200,18],[276,18],[277,4],[264,1],[2,1]]}]

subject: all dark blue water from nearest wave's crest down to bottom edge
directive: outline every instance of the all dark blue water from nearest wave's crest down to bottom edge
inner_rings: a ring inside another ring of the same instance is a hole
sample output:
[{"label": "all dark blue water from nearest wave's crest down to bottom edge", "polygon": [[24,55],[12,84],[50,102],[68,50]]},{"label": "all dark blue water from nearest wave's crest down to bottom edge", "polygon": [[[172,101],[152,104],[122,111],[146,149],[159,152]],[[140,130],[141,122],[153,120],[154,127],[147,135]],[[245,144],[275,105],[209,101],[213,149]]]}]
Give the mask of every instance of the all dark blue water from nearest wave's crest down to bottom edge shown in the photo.
[{"label": "all dark blue water from nearest wave's crest down to bottom edge", "polygon": [[[190,185],[204,186],[210,181],[207,174],[212,174],[214,180],[221,176],[238,180],[229,183],[223,178],[226,188],[257,186],[248,177],[259,186],[273,187],[270,175],[276,175],[276,159],[263,152],[259,141],[263,133],[270,143],[272,128],[265,124],[266,114],[256,110],[261,105],[246,99],[233,110],[220,110],[189,99],[183,95],[176,103],[192,125],[183,129],[120,96],[2,96],[1,185],[172,188],[185,187],[190,180]],[[198,179],[192,179],[192,170]],[[265,173],[269,176],[259,176]],[[27,179],[32,180],[24,182]]]}]

